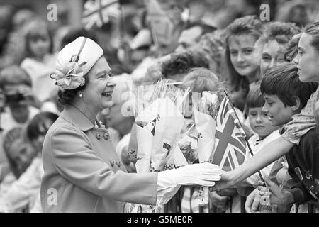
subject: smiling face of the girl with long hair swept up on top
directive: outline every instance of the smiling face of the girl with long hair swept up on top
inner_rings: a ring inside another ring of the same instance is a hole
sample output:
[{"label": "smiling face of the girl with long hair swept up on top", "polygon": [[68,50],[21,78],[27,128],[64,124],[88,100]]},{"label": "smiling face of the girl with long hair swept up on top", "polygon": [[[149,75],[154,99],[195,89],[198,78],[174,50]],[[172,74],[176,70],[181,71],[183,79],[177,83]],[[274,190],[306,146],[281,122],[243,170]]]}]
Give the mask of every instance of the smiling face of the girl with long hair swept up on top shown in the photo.
[{"label": "smiling face of the girl with long hair swept up on top", "polygon": [[242,76],[254,76],[260,65],[260,51],[252,35],[236,35],[229,40],[230,62]]}]

